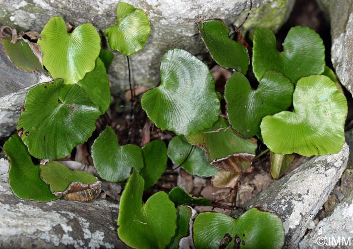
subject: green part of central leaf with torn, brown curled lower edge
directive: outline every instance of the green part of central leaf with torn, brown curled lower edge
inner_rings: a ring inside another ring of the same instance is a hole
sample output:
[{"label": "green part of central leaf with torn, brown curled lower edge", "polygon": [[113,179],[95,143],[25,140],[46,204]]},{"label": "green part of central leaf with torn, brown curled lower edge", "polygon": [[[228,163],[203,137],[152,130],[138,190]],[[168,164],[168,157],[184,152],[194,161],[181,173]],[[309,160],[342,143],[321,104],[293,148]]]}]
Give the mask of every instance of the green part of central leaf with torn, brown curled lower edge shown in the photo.
[{"label": "green part of central leaf with torn, brown curled lower edge", "polygon": [[223,118],[219,118],[213,127],[187,137],[189,143],[200,146],[206,151],[209,162],[225,159],[234,154],[255,155],[255,141],[241,138]]}]

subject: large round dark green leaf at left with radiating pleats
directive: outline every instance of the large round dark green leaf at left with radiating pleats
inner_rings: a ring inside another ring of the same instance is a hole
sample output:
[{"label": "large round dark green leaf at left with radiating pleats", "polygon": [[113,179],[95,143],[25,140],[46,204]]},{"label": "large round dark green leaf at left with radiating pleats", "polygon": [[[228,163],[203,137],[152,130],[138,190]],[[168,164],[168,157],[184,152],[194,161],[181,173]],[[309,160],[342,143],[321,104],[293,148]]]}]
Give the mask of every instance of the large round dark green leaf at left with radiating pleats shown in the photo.
[{"label": "large round dark green leaf at left with radiating pleats", "polygon": [[95,130],[99,107],[82,87],[63,82],[36,85],[26,95],[17,130],[36,158],[66,157]]}]

